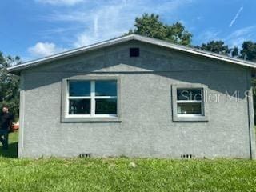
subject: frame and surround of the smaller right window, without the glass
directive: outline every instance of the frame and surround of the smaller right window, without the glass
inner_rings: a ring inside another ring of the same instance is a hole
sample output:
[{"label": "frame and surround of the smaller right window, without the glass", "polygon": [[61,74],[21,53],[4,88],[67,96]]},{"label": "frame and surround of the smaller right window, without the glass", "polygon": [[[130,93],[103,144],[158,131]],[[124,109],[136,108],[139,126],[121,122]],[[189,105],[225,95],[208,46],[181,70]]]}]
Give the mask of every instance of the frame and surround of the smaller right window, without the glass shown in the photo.
[{"label": "frame and surround of the smaller right window, without the glass", "polygon": [[[201,90],[202,100],[178,100],[177,90]],[[208,121],[208,103],[206,101],[206,90],[208,86],[193,83],[193,84],[178,84],[172,85],[172,112],[174,122],[207,122]],[[178,103],[201,103],[201,114],[178,114]]]}]

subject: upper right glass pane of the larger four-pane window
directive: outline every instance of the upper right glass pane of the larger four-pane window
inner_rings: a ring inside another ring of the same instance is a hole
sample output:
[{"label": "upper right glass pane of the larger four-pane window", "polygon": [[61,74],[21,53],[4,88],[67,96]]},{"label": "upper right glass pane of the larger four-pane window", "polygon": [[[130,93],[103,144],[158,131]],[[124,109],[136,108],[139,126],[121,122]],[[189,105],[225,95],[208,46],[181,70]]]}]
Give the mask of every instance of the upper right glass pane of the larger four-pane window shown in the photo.
[{"label": "upper right glass pane of the larger four-pane window", "polygon": [[96,81],[96,96],[117,96],[117,81]]}]

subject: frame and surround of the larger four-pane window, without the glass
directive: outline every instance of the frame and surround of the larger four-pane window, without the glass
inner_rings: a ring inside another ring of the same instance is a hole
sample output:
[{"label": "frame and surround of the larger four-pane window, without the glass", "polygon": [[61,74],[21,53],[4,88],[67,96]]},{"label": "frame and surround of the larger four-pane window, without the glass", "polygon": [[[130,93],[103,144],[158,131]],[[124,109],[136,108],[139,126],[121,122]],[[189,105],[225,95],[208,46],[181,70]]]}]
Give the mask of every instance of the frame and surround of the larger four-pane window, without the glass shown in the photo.
[{"label": "frame and surround of the larger four-pane window, without the glass", "polygon": [[[90,82],[90,96],[70,96],[70,83]],[[96,96],[95,82],[117,81],[117,96]],[[62,80],[62,122],[121,122],[120,78],[112,76],[74,77]],[[117,99],[117,114],[95,114],[96,99]],[[90,99],[90,114],[69,114],[70,99]]]}]

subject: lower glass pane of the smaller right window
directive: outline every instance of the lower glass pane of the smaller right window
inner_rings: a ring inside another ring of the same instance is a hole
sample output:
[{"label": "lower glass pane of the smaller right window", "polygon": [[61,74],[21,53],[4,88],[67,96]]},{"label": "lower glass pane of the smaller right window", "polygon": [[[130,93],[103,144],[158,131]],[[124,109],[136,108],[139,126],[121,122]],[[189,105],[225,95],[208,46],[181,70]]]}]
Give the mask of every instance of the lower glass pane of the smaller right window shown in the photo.
[{"label": "lower glass pane of the smaller right window", "polygon": [[202,103],[178,103],[178,114],[202,114]]}]

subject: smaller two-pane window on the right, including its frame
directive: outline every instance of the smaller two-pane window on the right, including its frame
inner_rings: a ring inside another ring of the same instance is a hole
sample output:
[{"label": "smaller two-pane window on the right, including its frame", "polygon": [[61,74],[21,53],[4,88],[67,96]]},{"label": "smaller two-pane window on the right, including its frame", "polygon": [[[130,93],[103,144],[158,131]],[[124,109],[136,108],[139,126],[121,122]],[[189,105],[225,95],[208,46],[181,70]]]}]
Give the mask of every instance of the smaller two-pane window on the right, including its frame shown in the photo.
[{"label": "smaller two-pane window on the right, including its frame", "polygon": [[206,121],[205,90],[198,84],[173,86],[174,121]]}]

